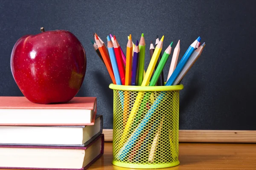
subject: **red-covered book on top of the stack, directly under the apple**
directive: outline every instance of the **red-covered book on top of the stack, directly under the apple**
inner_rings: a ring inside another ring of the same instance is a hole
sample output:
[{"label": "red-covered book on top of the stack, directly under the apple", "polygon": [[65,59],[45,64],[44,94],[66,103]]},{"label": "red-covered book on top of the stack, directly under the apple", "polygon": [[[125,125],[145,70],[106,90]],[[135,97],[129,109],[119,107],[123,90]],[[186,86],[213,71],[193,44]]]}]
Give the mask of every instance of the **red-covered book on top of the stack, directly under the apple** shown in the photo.
[{"label": "red-covered book on top of the stack, directly under the apple", "polygon": [[74,97],[62,104],[37,104],[25,97],[0,96],[0,125],[94,125],[96,97]]}]

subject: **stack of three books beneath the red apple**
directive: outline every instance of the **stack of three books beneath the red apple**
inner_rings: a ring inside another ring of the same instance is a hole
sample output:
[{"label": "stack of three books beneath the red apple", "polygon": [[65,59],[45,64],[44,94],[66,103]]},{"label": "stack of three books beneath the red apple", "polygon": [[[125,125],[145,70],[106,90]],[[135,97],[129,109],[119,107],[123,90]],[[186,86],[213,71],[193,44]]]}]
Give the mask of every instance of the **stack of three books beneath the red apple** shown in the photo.
[{"label": "stack of three books beneath the red apple", "polygon": [[102,156],[96,97],[42,105],[0,97],[0,168],[86,169]]}]

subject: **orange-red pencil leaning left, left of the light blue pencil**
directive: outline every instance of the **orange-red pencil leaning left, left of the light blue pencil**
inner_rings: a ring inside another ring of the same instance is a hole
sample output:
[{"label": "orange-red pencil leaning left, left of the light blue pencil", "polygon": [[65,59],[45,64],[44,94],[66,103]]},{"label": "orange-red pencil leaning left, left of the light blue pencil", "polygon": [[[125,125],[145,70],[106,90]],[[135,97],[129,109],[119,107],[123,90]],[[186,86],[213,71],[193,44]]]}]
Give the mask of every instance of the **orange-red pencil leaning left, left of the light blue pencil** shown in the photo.
[{"label": "orange-red pencil leaning left, left of the light blue pencil", "polygon": [[102,42],[100,42],[99,37],[97,35],[96,35],[96,44],[99,48],[99,52],[100,52],[100,54],[103,58],[103,61],[106,65],[106,67],[107,67],[108,73],[109,73],[109,75],[112,79],[113,84],[116,84],[116,79],[115,79],[115,76],[114,76],[114,73],[113,73],[113,68],[112,68],[112,65],[111,65],[111,61],[108,57],[107,51],[103,47],[103,44],[102,44]]}]

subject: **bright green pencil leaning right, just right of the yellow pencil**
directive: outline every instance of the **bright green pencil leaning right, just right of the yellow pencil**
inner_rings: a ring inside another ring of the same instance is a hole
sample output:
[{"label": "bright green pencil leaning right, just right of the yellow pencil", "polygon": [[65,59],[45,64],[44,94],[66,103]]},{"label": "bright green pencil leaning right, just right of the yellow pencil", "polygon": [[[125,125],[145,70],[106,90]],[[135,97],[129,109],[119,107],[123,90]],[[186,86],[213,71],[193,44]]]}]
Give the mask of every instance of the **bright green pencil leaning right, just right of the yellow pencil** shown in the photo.
[{"label": "bright green pencil leaning right, just right of the yellow pencil", "polygon": [[[173,43],[173,42],[172,42]],[[163,71],[164,65],[166,64],[167,59],[169,58],[171,51],[172,51],[172,43],[169,45],[168,48],[166,48],[166,51],[164,51],[162,59],[159,62],[159,65],[157,66],[157,69],[151,79],[151,82],[149,83],[149,86],[154,86],[157,83],[157,80],[160,77],[161,72]]]}]

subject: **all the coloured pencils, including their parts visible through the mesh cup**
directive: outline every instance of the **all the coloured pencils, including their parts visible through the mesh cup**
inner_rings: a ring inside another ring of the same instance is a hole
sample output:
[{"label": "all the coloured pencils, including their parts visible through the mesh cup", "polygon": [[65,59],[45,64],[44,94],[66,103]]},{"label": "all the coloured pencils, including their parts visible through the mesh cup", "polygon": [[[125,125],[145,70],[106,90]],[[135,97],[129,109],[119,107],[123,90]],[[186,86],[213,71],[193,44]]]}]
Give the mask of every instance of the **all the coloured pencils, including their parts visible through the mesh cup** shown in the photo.
[{"label": "all the coloured pencils, including their parts visible through the mesh cup", "polygon": [[[119,45],[116,36],[111,34],[107,37],[108,47],[99,38],[99,36],[94,34],[95,42],[93,43],[93,48],[95,49],[97,55],[105,64],[108,73],[112,79],[113,84],[116,85],[137,85],[137,86],[170,86],[179,85],[183,77],[189,71],[189,69],[194,65],[195,61],[201,56],[201,53],[205,47],[205,43],[200,43],[201,37],[198,37],[187,49],[180,62],[177,63],[180,54],[180,40],[174,48],[172,54],[172,61],[169,67],[169,73],[164,83],[163,68],[166,65],[172,52],[173,42],[166,48],[162,54],[163,40],[164,36],[159,40],[158,36],[156,38],[155,47],[153,42],[150,43],[149,53],[150,53],[150,63],[146,71],[145,69],[145,38],[144,34],[141,35],[140,41],[136,40],[134,44],[132,41],[131,34],[128,36],[128,43],[126,46],[126,56],[123,53],[121,46]],[[201,44],[201,45],[200,45]],[[133,102],[132,108],[129,109],[129,94],[125,91],[119,91],[119,95],[122,98],[122,109],[124,112],[123,124],[124,130],[119,141],[123,144],[117,158],[121,161],[128,156],[131,152],[132,157],[134,157],[137,152],[136,149],[131,148],[136,141],[138,141],[139,136],[147,136],[143,133],[143,129],[147,126],[148,121],[154,116],[157,107],[161,100],[163,100],[166,95],[165,91],[160,91],[158,96],[155,97],[150,108],[147,109],[145,115],[141,118],[140,122],[137,118],[141,116],[141,111],[144,111],[145,103],[150,99],[150,95],[143,91],[137,93],[136,99]],[[138,112],[138,113],[137,113]],[[127,117],[128,115],[128,117]],[[135,118],[136,117],[136,118]],[[136,119],[136,121],[134,121]],[[148,158],[149,162],[154,161],[154,153],[156,152],[155,146],[157,145],[158,138],[160,138],[160,130],[163,126],[163,119],[155,122],[155,127],[157,127],[157,133],[154,137],[153,144],[150,150],[150,156]],[[136,126],[136,129],[132,132],[131,127]],[[149,133],[153,133],[154,128],[149,130]],[[147,138],[144,139],[147,142]],[[140,145],[141,145],[140,141]],[[143,146],[144,144],[142,144]]]}]

